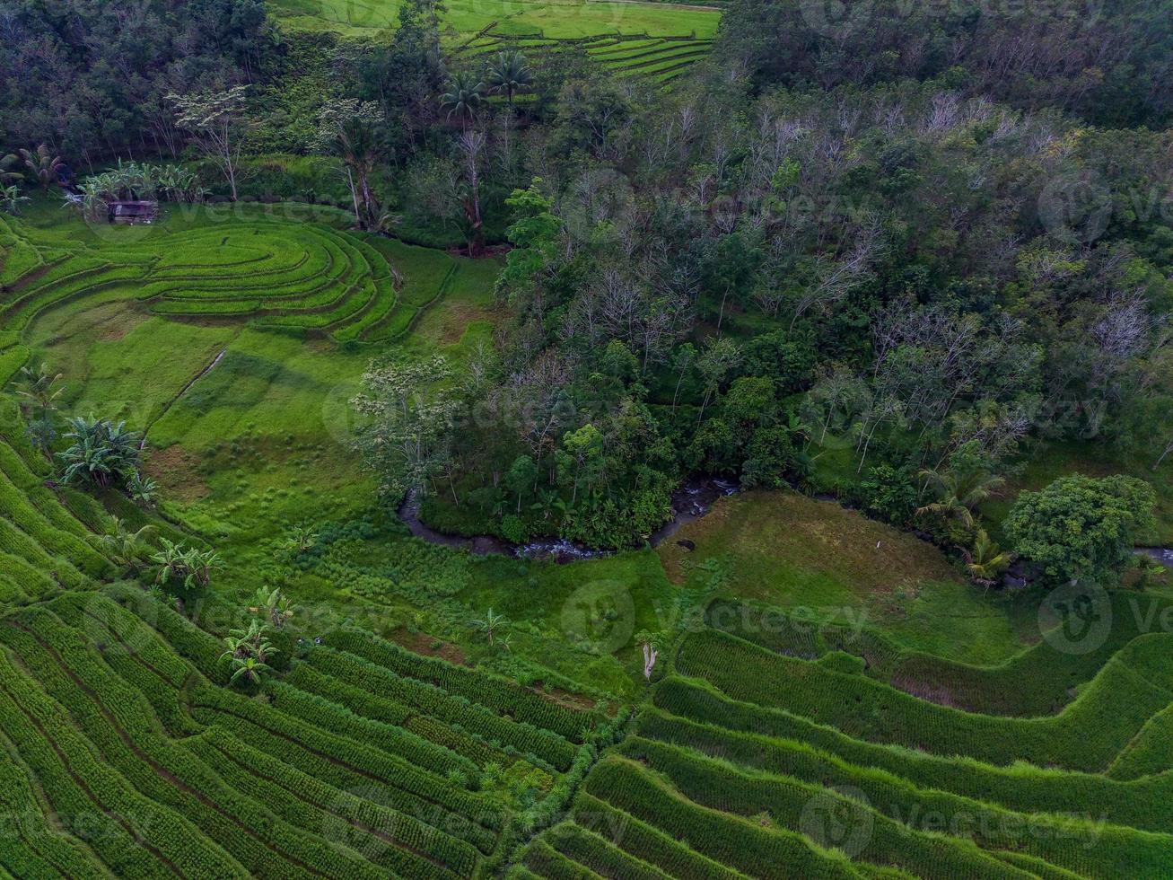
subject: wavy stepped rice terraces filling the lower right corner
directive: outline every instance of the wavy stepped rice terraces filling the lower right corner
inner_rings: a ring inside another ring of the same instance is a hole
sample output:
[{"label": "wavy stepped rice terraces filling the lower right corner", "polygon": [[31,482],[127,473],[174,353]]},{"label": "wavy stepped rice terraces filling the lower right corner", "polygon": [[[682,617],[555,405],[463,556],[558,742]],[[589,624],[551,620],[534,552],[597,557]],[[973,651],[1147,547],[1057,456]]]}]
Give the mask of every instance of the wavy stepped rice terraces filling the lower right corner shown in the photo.
[{"label": "wavy stepped rice terraces filling the lower right corner", "polygon": [[1094,657],[1043,645],[965,669],[879,634],[786,622],[711,607],[518,874],[1173,872],[1173,752],[1154,747],[1168,732],[1173,636],[1123,628]]}]

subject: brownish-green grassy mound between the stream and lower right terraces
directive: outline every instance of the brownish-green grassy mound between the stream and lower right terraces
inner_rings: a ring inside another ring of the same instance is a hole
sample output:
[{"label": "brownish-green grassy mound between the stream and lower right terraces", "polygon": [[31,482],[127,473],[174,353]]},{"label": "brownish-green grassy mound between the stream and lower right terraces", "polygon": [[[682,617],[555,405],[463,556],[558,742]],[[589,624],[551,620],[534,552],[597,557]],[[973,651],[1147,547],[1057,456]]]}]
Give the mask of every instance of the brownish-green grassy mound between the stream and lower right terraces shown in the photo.
[{"label": "brownish-green grassy mound between the stream and lower right terraces", "polygon": [[[689,551],[680,541],[689,540]],[[673,581],[867,622],[904,648],[992,663],[1023,648],[1033,611],[983,597],[931,544],[796,493],[721,501],[659,548]],[[1037,636],[1037,632],[1035,634]]]}]

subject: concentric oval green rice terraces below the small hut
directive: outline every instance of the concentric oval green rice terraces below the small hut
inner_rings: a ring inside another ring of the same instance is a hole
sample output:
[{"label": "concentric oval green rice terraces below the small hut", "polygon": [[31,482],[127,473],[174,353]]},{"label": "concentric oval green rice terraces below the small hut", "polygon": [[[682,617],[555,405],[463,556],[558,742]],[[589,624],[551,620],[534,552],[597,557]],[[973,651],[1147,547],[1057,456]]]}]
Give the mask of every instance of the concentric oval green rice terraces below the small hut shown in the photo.
[{"label": "concentric oval green rice terraces below the small hut", "polygon": [[101,246],[39,241],[38,232],[0,221],[0,381],[27,358],[30,321],[80,300],[134,299],[176,320],[385,344],[463,271],[440,251],[263,216]]}]

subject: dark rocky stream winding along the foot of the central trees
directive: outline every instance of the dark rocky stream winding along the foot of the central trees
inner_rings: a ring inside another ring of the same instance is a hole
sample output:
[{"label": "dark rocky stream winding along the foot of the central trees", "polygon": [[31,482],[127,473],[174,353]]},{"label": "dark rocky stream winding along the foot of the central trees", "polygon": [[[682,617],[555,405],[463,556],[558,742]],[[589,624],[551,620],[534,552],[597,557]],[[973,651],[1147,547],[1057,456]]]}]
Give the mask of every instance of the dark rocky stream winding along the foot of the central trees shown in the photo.
[{"label": "dark rocky stream winding along the foot of the central trees", "polygon": [[[692,476],[685,480],[684,485],[672,494],[672,519],[656,529],[651,535],[650,542],[652,547],[671,537],[684,523],[704,516],[712,508],[717,499],[733,495],[739,488],[738,483],[733,480],[723,480],[716,476]],[[420,501],[419,497],[414,496],[404,501],[396,513],[415,537],[421,537],[433,544],[465,548],[481,555],[500,553],[509,556],[574,562],[575,560],[597,559],[611,554],[611,550],[597,550],[556,537],[538,539],[517,544],[496,535],[475,535],[473,537],[449,535],[438,532],[420,520]]]}]

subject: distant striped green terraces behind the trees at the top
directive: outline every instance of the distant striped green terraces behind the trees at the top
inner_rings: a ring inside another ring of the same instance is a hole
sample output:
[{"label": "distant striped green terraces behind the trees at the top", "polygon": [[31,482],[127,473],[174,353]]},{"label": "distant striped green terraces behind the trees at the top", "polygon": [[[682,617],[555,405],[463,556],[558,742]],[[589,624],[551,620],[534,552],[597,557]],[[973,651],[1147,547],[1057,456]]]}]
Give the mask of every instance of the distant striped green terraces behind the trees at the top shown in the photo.
[{"label": "distant striped green terraces behind the trees at the top", "polygon": [[696,32],[662,36],[603,34],[567,41],[538,35],[511,36],[493,29],[463,45],[457,54],[475,59],[517,49],[527,56],[541,57],[548,53],[582,50],[617,75],[640,75],[667,82],[706,57],[712,45],[712,34]]}]

